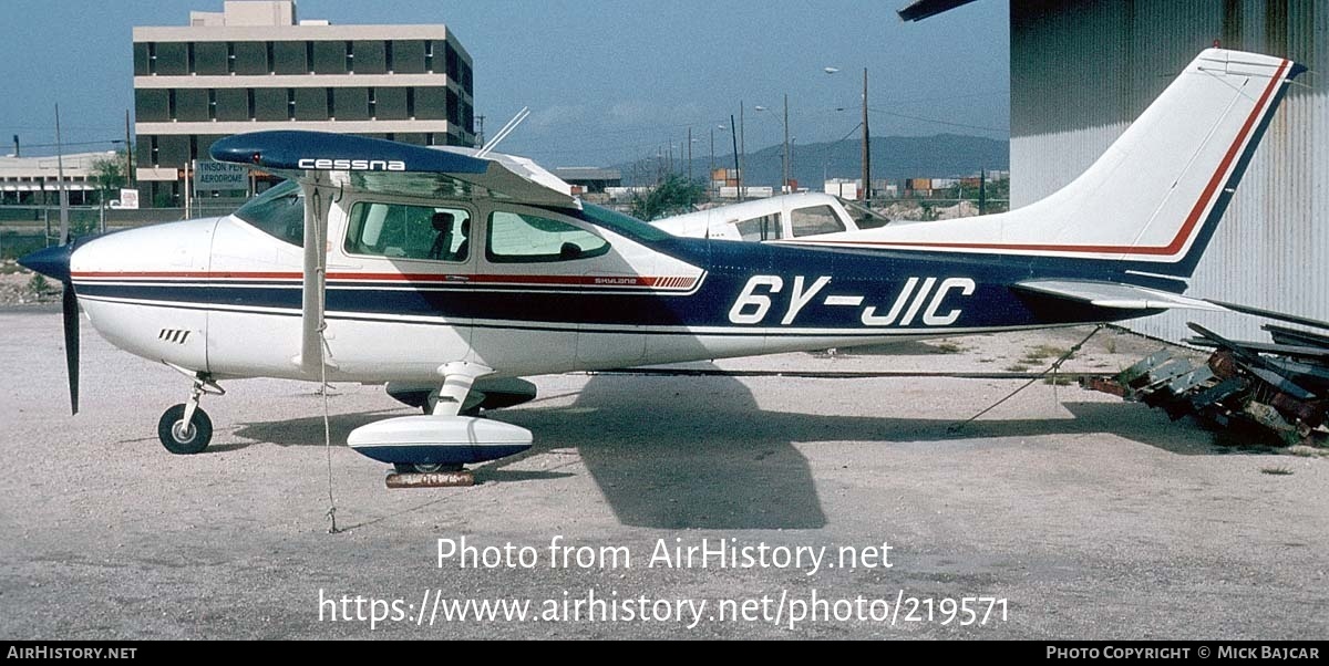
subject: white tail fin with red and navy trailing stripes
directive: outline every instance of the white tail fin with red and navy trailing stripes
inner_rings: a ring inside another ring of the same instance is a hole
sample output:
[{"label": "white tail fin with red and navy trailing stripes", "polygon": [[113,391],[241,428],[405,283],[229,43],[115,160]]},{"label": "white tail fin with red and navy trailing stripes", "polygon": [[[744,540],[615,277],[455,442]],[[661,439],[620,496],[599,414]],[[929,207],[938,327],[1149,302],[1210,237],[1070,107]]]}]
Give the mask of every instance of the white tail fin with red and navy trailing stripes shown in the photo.
[{"label": "white tail fin with red and navy trailing stripes", "polygon": [[1087,171],[1055,194],[1001,215],[888,226],[870,244],[1110,259],[1188,277],[1285,84],[1304,70],[1284,58],[1204,50]]}]

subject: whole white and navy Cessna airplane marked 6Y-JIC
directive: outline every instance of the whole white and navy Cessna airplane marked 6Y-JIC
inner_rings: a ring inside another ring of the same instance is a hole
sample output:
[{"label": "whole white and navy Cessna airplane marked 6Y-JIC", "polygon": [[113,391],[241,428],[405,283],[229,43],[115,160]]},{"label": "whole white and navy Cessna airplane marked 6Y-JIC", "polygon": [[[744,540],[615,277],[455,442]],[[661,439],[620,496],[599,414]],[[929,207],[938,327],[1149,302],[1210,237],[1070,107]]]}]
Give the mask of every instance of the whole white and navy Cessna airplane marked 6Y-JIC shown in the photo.
[{"label": "whole white and navy Cessna airplane marked 6Y-JIC", "polygon": [[[529,399],[520,377],[1112,321],[1181,296],[1292,61],[1203,52],[1083,175],[1026,208],[777,243],[670,236],[585,204],[529,161],[310,131],[219,141],[214,159],[290,178],[234,215],[49,248],[114,345],[193,377],[162,415],[202,451],[218,381],[387,383],[427,415],[354,431],[424,470],[530,446],[462,415]],[[77,296],[74,296],[77,295]]]}]

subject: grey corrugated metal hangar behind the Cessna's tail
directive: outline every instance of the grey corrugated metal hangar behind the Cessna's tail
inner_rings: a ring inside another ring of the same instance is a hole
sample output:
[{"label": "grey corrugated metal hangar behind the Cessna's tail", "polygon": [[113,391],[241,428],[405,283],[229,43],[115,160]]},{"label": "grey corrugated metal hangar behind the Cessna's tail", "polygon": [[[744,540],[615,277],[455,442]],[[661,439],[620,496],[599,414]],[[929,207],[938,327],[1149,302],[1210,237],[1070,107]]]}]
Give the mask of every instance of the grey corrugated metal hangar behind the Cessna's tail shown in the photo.
[{"label": "grey corrugated metal hangar behind the Cessna's tail", "polygon": [[[968,4],[920,0],[920,20]],[[1201,49],[1253,50],[1310,72],[1288,92],[1200,261],[1189,295],[1329,320],[1329,4],[1318,0],[1013,0],[1011,207],[1087,168]],[[1179,310],[1131,322],[1181,340],[1187,321],[1263,337],[1251,317]]]}]

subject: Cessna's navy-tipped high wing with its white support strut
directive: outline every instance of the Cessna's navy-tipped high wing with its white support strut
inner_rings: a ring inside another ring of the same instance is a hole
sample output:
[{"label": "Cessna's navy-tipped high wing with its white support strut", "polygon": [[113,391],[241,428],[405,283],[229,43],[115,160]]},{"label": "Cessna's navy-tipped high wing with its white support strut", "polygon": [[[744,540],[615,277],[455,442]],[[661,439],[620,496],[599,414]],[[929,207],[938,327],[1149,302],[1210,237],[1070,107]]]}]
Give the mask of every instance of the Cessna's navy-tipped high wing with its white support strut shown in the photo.
[{"label": "Cessna's navy-tipped high wing with its white support strut", "polygon": [[[571,187],[534,162],[461,147],[423,147],[326,131],[274,130],[213,143],[213,159],[262,168],[296,180],[304,191],[304,288],[300,354],[306,371],[320,369],[332,200],[346,190],[421,198],[504,199],[579,208]],[[441,370],[441,369],[440,369]],[[468,386],[469,387],[469,386]]]}]

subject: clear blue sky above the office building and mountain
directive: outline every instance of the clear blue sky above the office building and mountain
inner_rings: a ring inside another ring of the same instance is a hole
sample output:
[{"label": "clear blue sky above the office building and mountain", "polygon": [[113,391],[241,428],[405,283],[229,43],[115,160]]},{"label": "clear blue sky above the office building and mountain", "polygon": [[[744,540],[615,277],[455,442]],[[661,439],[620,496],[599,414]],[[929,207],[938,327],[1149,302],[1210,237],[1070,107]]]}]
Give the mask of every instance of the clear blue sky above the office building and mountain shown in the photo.
[{"label": "clear blue sky above the office building and mountain", "polygon": [[[530,106],[502,150],[550,167],[676,150],[688,127],[694,157],[708,155],[710,130],[738,115],[740,100],[748,150],[769,146],[780,141],[783,94],[797,143],[836,141],[859,123],[864,68],[873,135],[1005,138],[1007,0],[910,24],[894,13],[906,1],[300,0],[298,13],[335,24],[448,24],[474,58],[486,130]],[[5,0],[4,146],[12,134],[25,146],[53,142],[57,102],[66,142],[122,137],[133,105],[132,28],[186,25],[191,9],[221,8],[221,0]],[[827,74],[828,66],[840,72]],[[718,154],[728,153],[727,137],[716,129]],[[112,146],[74,150],[102,147]]]}]

